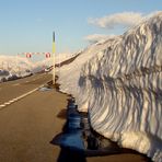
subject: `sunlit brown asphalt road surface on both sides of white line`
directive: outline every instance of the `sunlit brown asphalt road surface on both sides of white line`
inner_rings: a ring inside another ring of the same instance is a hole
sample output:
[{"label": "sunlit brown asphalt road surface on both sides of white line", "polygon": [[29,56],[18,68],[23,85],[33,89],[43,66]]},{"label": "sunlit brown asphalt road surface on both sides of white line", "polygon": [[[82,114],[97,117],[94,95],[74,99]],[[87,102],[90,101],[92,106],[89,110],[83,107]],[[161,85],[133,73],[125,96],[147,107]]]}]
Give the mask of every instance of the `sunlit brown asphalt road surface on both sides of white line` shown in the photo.
[{"label": "sunlit brown asphalt road surface on both sides of white line", "polygon": [[[0,99],[8,101],[50,77],[40,74],[3,83]],[[67,96],[53,89],[36,91],[0,109],[0,162],[56,162],[60,150],[50,141],[61,131],[65,120],[56,116],[66,106]]]}]

